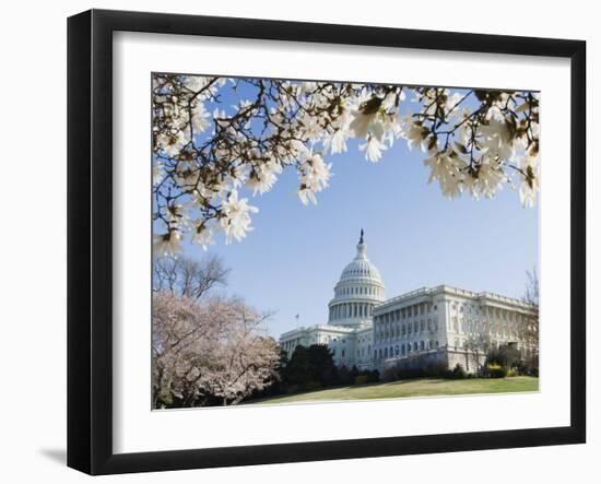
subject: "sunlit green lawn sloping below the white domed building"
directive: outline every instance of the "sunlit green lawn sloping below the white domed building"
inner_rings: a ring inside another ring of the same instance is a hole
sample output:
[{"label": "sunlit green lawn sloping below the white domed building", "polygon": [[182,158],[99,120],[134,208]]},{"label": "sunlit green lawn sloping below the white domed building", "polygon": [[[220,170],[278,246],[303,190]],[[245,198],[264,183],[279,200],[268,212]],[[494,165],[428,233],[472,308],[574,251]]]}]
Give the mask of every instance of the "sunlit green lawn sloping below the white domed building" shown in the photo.
[{"label": "sunlit green lawn sloping below the white domed building", "polygon": [[397,399],[404,397],[434,397],[445,394],[505,393],[538,391],[539,379],[533,377],[512,378],[470,378],[466,380],[444,380],[422,378],[390,383],[372,383],[355,387],[338,387],[328,390],[310,391],[248,402],[249,404],[273,404],[293,402],[320,402],[337,400]]}]

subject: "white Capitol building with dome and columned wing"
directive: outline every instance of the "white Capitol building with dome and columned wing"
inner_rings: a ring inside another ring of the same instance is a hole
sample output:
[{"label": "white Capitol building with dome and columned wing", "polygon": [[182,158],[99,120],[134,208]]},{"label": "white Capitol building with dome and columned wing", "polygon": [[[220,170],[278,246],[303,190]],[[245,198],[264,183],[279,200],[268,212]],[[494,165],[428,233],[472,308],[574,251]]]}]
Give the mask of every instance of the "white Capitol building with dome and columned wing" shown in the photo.
[{"label": "white Capitol building with dome and columned wing", "polygon": [[325,344],[338,366],[379,369],[397,364],[458,363],[475,371],[491,347],[515,345],[525,356],[538,347],[535,307],[487,292],[447,285],[422,287],[387,299],[378,269],[367,258],[363,231],[356,256],[334,286],[328,322],[283,333],[291,357],[298,345]]}]

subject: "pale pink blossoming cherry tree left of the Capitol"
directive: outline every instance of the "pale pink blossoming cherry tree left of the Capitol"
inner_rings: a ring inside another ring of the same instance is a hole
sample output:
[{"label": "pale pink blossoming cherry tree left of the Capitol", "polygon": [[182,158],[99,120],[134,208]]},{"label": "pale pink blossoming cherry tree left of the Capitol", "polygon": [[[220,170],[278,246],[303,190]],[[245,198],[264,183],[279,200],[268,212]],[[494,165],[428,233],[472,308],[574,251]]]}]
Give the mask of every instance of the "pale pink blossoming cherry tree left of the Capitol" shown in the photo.
[{"label": "pale pink blossoming cherry tree left of the Capitol", "polygon": [[153,294],[153,405],[238,403],[273,381],[280,350],[260,315],[236,298]]}]

